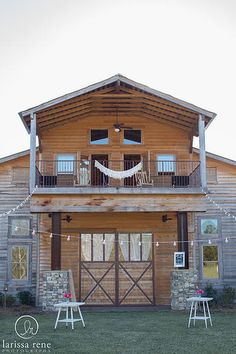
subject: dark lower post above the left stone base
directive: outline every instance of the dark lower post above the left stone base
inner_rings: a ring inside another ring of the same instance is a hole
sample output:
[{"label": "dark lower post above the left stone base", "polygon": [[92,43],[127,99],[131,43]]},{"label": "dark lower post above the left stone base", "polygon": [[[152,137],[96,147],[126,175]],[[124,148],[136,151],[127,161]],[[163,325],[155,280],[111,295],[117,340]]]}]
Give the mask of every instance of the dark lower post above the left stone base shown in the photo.
[{"label": "dark lower post above the left stone base", "polygon": [[52,213],[51,270],[61,269],[61,213]]}]

